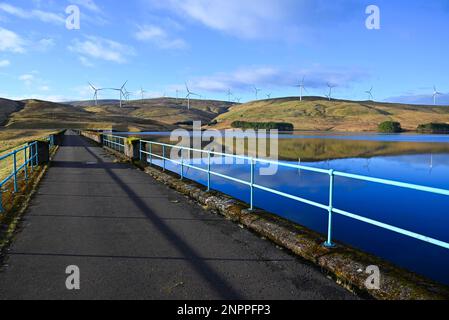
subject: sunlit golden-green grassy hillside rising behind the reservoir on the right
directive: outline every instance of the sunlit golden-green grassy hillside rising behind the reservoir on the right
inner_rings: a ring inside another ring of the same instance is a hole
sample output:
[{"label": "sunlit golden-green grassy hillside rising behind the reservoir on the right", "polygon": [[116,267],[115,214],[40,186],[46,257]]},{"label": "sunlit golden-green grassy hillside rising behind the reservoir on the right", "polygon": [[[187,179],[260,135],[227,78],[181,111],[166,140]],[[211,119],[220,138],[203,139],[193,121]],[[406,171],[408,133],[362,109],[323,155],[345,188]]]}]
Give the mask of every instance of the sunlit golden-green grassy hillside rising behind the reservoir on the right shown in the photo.
[{"label": "sunlit golden-green grassy hillside rising behind the reservoir on the right", "polygon": [[329,101],[319,97],[282,98],[237,105],[216,120],[216,128],[230,128],[233,121],[287,122],[295,130],[377,131],[383,121],[400,122],[405,130],[419,124],[449,123],[449,107],[415,106],[372,101]]}]

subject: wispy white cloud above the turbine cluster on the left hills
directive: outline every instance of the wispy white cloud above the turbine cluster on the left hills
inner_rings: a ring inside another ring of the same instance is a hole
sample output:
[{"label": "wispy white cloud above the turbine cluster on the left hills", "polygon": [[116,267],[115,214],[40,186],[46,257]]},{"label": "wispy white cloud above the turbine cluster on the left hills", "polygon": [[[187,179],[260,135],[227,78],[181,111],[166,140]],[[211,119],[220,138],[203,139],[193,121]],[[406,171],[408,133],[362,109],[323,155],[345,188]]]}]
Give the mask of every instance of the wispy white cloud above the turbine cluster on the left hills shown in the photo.
[{"label": "wispy white cloud above the turbine cluster on the left hills", "polygon": [[88,36],[85,40],[74,40],[69,50],[79,53],[83,57],[90,57],[110,62],[125,63],[128,56],[135,55],[130,46],[116,41]]}]

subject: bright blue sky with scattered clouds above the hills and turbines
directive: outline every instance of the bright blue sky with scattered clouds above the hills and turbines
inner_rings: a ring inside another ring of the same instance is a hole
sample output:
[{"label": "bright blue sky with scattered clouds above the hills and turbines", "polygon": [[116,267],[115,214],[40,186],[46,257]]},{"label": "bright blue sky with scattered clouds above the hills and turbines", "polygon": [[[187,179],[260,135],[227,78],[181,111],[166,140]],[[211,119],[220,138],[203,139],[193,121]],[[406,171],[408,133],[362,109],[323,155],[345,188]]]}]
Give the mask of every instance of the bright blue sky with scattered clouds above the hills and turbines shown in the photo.
[{"label": "bright blue sky with scattered clouds above the hills and turbines", "polygon": [[[66,28],[69,5],[80,30]],[[368,5],[380,30],[365,26]],[[447,0],[0,0],[0,96],[90,99],[87,82],[145,96],[310,95],[449,105]],[[100,98],[116,98],[112,91]]]}]

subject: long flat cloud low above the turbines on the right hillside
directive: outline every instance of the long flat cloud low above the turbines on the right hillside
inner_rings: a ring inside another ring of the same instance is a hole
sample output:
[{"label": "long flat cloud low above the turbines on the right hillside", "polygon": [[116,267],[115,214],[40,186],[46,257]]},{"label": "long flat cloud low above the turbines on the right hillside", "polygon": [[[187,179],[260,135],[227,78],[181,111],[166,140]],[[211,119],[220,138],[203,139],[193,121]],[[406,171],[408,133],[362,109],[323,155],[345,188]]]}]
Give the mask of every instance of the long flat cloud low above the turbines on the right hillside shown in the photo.
[{"label": "long flat cloud low above the turbines on the right hillside", "polygon": [[367,78],[364,71],[344,68],[281,69],[277,67],[245,67],[231,73],[218,73],[193,79],[190,85],[195,90],[224,92],[232,90],[251,90],[254,85],[267,87],[293,87],[305,77],[306,86],[311,89],[325,88],[327,83],[346,87],[351,83]]}]

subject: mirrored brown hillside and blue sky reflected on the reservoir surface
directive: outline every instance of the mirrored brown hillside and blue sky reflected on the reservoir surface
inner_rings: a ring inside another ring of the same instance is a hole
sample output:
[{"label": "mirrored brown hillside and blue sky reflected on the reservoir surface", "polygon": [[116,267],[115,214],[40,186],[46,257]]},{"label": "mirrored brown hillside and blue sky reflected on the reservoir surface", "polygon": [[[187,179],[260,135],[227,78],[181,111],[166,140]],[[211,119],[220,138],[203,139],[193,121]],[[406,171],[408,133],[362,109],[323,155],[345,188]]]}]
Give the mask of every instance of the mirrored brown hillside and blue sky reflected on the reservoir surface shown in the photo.
[{"label": "mirrored brown hillside and blue sky reflected on the reservoir surface", "polygon": [[[347,136],[345,136],[347,137]],[[148,139],[148,137],[146,137]],[[167,137],[153,137],[169,142]],[[357,139],[284,138],[284,159],[301,158],[308,166],[449,189],[449,143]],[[415,140],[419,140],[415,137]],[[448,139],[449,142],[449,139]],[[160,162],[159,162],[160,164]],[[203,164],[206,168],[206,164]],[[168,164],[179,172],[180,167]],[[248,164],[214,165],[213,170],[249,181]],[[256,170],[257,172],[257,170]],[[189,169],[186,177],[207,184],[204,173]],[[256,183],[327,204],[329,177],[283,168],[274,176],[256,176]],[[214,189],[249,201],[249,189],[213,177]],[[370,182],[336,178],[335,207],[409,231],[449,242],[449,197]],[[327,212],[264,191],[256,191],[255,204],[310,229],[326,233]],[[449,251],[342,216],[334,218],[335,239],[389,260],[399,266],[449,285]]]}]

